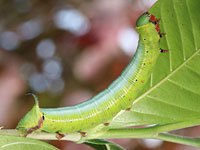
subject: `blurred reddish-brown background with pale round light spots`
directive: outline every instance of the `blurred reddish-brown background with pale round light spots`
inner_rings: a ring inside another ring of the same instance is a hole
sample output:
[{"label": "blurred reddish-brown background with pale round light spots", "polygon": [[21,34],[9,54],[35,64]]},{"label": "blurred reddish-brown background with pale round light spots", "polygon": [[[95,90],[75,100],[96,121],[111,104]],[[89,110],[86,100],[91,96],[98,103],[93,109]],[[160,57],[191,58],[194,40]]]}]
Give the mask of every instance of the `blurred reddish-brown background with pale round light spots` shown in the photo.
[{"label": "blurred reddish-brown background with pale round light spots", "polygon": [[[116,79],[135,53],[135,22],[156,0],[1,0],[0,125],[15,128],[33,106],[70,106]],[[195,135],[197,128],[180,130]],[[127,150],[188,150],[156,140],[112,140]],[[91,150],[49,141],[61,150]]]}]

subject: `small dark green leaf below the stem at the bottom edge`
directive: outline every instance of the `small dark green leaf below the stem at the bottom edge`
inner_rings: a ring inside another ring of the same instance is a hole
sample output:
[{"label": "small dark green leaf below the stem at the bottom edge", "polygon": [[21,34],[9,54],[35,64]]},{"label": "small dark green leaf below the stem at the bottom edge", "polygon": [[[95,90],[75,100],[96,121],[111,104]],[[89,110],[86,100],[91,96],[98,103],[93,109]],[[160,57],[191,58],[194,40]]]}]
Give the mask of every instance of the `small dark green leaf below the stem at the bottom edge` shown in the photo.
[{"label": "small dark green leaf below the stem at the bottom edge", "polygon": [[89,140],[85,144],[95,148],[96,150],[124,150],[121,146],[105,140]]}]

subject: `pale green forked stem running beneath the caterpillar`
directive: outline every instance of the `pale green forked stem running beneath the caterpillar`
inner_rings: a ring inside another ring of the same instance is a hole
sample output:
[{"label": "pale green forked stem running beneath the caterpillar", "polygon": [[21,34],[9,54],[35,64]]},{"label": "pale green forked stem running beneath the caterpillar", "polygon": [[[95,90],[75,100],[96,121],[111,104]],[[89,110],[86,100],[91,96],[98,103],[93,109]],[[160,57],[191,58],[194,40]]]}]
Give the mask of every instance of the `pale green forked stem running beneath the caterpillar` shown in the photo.
[{"label": "pale green forked stem running beneath the caterpillar", "polygon": [[[159,139],[179,144],[186,144],[191,146],[200,147],[200,138],[190,138],[184,136],[177,136],[172,134],[164,134],[162,132],[172,131],[176,129],[191,127],[199,125],[200,120],[190,120],[187,122],[179,122],[167,125],[156,125],[146,128],[129,128],[129,129],[109,129],[100,130],[89,133],[86,137],[82,138],[80,133],[67,134],[61,140],[68,140],[74,142],[84,142],[90,139],[114,139],[114,138],[152,138]],[[18,130],[0,130],[0,135],[22,136]],[[57,140],[56,133],[37,132],[29,134],[27,137],[42,140]]]}]

